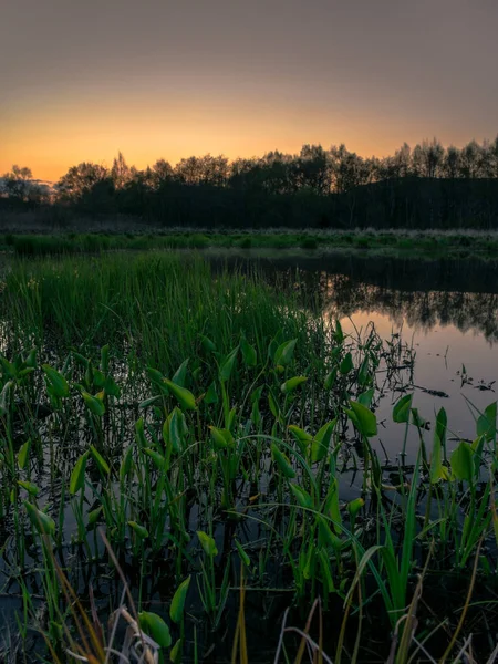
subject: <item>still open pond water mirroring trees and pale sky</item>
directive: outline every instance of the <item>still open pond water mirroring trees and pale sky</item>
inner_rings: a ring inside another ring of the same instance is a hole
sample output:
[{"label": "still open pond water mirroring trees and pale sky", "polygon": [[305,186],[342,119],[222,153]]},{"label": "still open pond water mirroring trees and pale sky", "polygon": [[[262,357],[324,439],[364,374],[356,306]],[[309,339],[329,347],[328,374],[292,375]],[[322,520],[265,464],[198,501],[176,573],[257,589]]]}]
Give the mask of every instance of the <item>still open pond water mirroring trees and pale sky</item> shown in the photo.
[{"label": "still open pond water mirroring trees and pale sky", "polygon": [[[271,283],[304,290],[318,300],[323,315],[340,320],[346,332],[364,330],[372,322],[383,339],[400,334],[416,353],[413,405],[429,422],[442,406],[446,409],[448,450],[457,444],[452,438],[476,437],[476,411],[469,402],[483,411],[497,398],[498,260],[336,253],[239,256],[227,262],[242,270],[257,264]],[[391,417],[398,397],[386,392],[376,411],[384,447],[378,444],[378,453],[392,461],[404,435],[403,426],[393,424]],[[426,438],[432,445],[430,433]],[[414,429],[408,450],[417,448]]]}]

